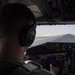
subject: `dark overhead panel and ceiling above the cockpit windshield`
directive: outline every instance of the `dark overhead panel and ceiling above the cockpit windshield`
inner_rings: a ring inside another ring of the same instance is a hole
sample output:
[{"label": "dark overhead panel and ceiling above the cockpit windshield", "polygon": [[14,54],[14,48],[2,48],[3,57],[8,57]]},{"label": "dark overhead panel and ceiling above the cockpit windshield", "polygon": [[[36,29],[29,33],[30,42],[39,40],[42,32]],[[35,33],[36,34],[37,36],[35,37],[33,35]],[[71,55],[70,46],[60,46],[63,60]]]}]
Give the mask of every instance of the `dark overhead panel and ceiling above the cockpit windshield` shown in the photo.
[{"label": "dark overhead panel and ceiling above the cockpit windshield", "polygon": [[3,4],[7,2],[26,4],[40,25],[75,24],[75,0],[6,0]]}]

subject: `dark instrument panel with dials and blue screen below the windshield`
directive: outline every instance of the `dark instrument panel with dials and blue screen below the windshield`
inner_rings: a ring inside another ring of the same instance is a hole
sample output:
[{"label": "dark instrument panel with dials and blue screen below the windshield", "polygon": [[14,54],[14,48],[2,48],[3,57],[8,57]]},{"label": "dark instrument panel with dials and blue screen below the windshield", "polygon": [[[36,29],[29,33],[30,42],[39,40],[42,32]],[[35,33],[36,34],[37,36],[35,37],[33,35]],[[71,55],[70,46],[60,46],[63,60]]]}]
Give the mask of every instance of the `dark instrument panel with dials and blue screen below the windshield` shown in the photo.
[{"label": "dark instrument panel with dials and blue screen below the windshield", "polygon": [[50,70],[50,64],[59,67],[59,75],[75,74],[75,43],[47,42],[30,48],[27,55],[47,70]]}]

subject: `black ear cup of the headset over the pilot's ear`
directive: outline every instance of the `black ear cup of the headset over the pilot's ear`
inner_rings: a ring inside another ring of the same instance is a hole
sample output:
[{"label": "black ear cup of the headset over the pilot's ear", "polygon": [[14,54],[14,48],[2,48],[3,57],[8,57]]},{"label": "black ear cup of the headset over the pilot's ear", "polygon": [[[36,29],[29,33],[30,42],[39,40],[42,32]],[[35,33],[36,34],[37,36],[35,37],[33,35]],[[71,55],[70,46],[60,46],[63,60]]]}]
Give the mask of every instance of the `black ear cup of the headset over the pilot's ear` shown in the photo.
[{"label": "black ear cup of the headset over the pilot's ear", "polygon": [[36,35],[36,30],[34,28],[34,25],[26,25],[24,26],[19,34],[19,42],[21,46],[30,46]]}]

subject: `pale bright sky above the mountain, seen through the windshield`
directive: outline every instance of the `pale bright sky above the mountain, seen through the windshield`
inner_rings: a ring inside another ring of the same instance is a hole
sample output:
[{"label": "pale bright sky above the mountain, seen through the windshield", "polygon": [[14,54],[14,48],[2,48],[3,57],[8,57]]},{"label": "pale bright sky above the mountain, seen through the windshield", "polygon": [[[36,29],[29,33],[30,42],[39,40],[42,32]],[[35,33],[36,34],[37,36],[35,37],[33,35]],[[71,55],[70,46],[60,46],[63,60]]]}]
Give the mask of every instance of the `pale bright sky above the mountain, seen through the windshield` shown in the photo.
[{"label": "pale bright sky above the mountain, seen through the windshield", "polygon": [[37,26],[37,34],[74,34],[75,25],[42,25]]}]

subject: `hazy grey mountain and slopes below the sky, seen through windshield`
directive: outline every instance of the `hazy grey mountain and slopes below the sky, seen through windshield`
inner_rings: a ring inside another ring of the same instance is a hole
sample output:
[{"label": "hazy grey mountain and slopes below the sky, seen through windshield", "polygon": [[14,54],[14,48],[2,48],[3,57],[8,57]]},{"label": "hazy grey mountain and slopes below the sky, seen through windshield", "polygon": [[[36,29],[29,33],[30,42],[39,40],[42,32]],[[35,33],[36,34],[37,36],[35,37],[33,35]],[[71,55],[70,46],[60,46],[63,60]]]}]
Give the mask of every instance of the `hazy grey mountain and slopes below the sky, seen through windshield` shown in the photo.
[{"label": "hazy grey mountain and slopes below the sky, seen through windshield", "polygon": [[67,42],[67,43],[75,43],[75,35],[66,34],[59,36],[49,36],[49,37],[36,37],[34,43],[31,45],[37,46],[46,42]]}]

